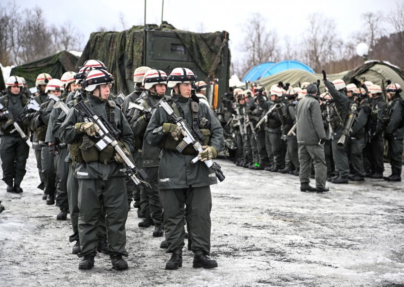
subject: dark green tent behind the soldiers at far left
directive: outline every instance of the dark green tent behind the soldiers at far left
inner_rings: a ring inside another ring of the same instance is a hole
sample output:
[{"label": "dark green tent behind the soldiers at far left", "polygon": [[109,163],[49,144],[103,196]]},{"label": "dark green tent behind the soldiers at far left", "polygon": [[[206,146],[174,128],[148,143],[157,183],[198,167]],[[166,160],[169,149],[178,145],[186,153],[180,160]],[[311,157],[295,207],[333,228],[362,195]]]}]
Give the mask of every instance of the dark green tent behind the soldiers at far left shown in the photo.
[{"label": "dark green tent behind the soldiers at far left", "polygon": [[60,79],[63,73],[77,70],[78,57],[62,51],[50,57],[14,67],[10,75],[24,77],[29,87],[35,86],[36,76],[40,73],[48,73],[53,78]]}]

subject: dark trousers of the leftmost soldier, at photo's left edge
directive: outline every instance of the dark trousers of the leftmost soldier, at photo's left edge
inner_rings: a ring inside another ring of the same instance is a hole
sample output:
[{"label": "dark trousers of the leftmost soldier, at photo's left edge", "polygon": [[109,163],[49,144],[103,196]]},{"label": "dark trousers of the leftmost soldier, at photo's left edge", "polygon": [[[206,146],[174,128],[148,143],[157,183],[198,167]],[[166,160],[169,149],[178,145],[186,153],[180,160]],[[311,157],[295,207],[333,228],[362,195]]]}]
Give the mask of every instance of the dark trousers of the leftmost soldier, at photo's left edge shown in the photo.
[{"label": "dark trousers of the leftmost soldier, at photo's left edge", "polygon": [[21,137],[4,135],[0,140],[0,158],[2,159],[3,180],[7,184],[20,184],[24,178],[25,165],[29,155],[29,146]]}]

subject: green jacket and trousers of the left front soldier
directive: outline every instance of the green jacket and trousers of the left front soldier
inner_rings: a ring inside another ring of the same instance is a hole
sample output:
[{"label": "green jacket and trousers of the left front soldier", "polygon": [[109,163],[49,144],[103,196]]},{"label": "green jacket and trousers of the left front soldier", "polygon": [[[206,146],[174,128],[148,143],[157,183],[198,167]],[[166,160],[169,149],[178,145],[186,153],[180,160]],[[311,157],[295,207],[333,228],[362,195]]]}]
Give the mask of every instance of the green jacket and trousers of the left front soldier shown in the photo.
[{"label": "green jacket and trousers of the left front soldier", "polygon": [[[103,102],[93,98],[91,95],[87,96],[87,101],[95,114],[103,114],[111,122],[119,132],[120,140],[131,150],[133,134],[120,108],[112,101]],[[98,153],[93,146],[91,148],[84,146],[82,142],[83,134],[74,127],[78,122],[84,122],[84,120],[76,109],[71,109],[60,127],[59,135],[62,142],[71,144],[70,151],[75,161],[77,161],[74,176],[78,179],[79,184],[78,231],[81,249],[79,257],[94,256],[96,254],[97,227],[102,207],[106,212],[105,221],[110,254],[128,256],[125,249],[125,223],[128,214],[127,194],[123,180],[125,168],[121,163],[110,161],[113,159],[113,154],[109,157],[107,154]],[[92,138],[86,135],[84,137],[86,139]],[[86,141],[86,143],[89,143],[89,141]],[[107,148],[104,149],[106,153],[108,150],[111,151],[110,148]],[[84,152],[81,152],[82,150]],[[98,160],[102,160],[100,155],[104,155],[105,158],[108,157],[110,160],[103,161],[103,163],[99,162]]]}]

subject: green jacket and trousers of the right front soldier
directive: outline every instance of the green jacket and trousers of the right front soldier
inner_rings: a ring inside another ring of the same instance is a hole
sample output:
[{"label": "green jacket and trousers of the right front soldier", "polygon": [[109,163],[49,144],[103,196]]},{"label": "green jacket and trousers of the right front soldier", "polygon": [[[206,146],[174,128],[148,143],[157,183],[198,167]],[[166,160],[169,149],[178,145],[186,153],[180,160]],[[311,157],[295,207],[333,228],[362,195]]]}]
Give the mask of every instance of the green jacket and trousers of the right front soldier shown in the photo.
[{"label": "green jacket and trousers of the right front soldier", "polygon": [[[180,116],[192,126],[190,99],[173,94],[172,100],[176,103]],[[219,121],[212,110],[203,104],[198,105],[197,114],[208,119],[208,128],[211,132],[209,145],[220,152],[224,149],[224,138]],[[170,135],[163,132],[162,125],[168,122],[164,109],[161,107],[156,109],[144,136],[149,145],[160,146],[165,140],[173,140]],[[164,149],[161,156],[158,188],[164,208],[164,228],[169,244],[167,252],[182,249],[184,246],[184,213],[188,214],[188,233],[192,238],[192,251],[203,251],[208,255],[211,251],[212,197],[209,185],[217,183],[217,179],[215,173],[203,162],[191,163],[196,155],[196,152],[181,154],[172,149]]]}]

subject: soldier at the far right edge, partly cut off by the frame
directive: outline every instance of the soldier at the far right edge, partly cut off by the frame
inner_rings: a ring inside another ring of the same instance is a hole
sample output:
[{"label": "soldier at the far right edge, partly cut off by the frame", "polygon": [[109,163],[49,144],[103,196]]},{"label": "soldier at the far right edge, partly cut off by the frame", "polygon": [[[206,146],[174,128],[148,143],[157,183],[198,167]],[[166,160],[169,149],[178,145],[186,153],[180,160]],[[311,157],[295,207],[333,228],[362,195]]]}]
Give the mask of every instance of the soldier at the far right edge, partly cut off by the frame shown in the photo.
[{"label": "soldier at the far right edge, partly cut off by the frame", "polygon": [[388,97],[388,123],[385,136],[388,143],[387,156],[390,159],[391,174],[383,176],[387,181],[401,181],[402,138],[404,137],[404,101],[401,99],[401,87],[391,83],[386,87]]}]

